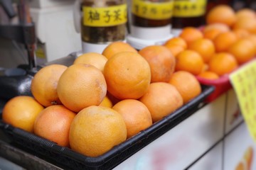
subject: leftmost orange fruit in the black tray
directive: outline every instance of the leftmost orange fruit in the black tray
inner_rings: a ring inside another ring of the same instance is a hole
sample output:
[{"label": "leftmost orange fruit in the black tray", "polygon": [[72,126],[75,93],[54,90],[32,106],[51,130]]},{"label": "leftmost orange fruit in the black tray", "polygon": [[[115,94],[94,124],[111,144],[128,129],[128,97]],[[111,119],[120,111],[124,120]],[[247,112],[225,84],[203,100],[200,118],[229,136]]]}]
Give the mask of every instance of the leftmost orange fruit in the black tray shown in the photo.
[{"label": "leftmost orange fruit in the black tray", "polygon": [[5,123],[33,132],[36,116],[43,106],[31,96],[16,96],[4,105],[2,119]]}]

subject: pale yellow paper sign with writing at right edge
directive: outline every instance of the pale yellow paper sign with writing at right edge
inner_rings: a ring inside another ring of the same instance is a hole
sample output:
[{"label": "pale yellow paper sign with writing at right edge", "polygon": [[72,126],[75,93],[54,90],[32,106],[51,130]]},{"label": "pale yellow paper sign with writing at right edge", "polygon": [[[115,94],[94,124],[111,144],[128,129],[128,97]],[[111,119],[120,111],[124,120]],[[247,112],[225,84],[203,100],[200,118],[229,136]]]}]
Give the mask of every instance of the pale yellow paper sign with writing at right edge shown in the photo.
[{"label": "pale yellow paper sign with writing at right edge", "polygon": [[247,128],[256,142],[256,60],[230,74],[230,81]]}]

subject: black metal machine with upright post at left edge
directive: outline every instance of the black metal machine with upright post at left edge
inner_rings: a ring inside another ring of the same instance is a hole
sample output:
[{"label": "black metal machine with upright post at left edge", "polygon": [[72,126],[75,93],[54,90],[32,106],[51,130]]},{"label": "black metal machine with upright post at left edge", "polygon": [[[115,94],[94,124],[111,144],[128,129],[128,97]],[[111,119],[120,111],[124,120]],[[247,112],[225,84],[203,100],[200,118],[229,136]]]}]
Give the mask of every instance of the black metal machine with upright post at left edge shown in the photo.
[{"label": "black metal machine with upright post at left edge", "polygon": [[[27,0],[18,1],[18,25],[0,25],[0,36],[9,38],[25,45],[28,54],[27,74],[21,76],[0,77],[0,98],[9,99],[18,95],[30,95],[31,78],[37,71],[36,64],[36,33],[31,21]],[[1,3],[1,5],[3,5]]]}]

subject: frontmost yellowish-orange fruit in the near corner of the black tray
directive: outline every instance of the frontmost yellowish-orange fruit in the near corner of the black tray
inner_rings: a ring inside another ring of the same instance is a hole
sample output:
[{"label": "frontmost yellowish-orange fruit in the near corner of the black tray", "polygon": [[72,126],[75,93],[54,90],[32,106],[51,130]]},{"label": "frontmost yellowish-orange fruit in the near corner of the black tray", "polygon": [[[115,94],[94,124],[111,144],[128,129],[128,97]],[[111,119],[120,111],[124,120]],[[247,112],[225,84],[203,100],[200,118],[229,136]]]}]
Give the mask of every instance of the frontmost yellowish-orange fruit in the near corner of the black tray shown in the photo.
[{"label": "frontmost yellowish-orange fruit in the near corner of the black tray", "polygon": [[70,126],[71,149],[87,157],[98,157],[127,139],[122,115],[112,108],[89,106],[82,109]]}]

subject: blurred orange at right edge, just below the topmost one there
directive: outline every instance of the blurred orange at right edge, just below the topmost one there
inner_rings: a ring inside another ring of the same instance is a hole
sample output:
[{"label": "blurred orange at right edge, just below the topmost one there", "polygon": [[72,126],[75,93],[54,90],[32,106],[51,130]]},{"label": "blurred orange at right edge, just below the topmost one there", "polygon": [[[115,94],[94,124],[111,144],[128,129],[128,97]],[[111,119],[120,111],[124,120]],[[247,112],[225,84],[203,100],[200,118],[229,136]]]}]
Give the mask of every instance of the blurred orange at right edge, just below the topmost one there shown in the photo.
[{"label": "blurred orange at right edge, just below the topmost one there", "polygon": [[235,22],[233,29],[244,29],[249,33],[256,34],[256,19],[242,18]]}]

